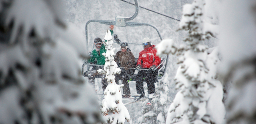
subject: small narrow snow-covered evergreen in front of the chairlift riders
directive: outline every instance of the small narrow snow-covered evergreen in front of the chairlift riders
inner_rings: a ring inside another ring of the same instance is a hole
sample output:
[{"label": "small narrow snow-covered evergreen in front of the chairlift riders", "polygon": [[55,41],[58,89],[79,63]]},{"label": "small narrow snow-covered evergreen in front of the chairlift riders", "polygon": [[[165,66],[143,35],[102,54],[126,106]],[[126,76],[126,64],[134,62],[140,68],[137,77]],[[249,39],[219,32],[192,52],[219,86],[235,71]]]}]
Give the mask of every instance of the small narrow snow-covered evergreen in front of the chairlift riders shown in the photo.
[{"label": "small narrow snow-covered evergreen in front of the chairlift riders", "polygon": [[125,120],[127,122],[130,121],[130,114],[127,108],[122,103],[122,93],[120,88],[124,86],[118,85],[115,82],[115,74],[120,74],[121,69],[117,68],[117,64],[114,61],[114,51],[116,48],[112,48],[112,44],[114,44],[112,40],[112,35],[110,30],[107,29],[104,40],[104,45],[106,46],[106,53],[102,55],[105,56],[105,65],[104,70],[99,69],[97,72],[100,74],[106,74],[106,79],[108,82],[108,86],[104,91],[104,99],[102,100],[102,108],[101,112],[103,113],[105,123],[110,124],[124,124]]}]

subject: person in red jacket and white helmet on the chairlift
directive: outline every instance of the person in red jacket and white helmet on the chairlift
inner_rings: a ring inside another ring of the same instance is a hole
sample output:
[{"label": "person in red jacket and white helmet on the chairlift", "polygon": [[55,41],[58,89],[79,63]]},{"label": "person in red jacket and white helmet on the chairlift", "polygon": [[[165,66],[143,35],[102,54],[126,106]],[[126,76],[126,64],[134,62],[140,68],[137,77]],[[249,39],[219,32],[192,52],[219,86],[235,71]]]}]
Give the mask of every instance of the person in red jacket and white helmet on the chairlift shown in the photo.
[{"label": "person in red jacket and white helmet on the chairlift", "polygon": [[[144,50],[142,50],[139,54],[139,58],[137,61],[136,70],[138,70],[138,74],[136,76],[136,90],[140,95],[140,98],[144,97],[144,88],[143,88],[143,78],[145,78],[146,83],[148,85],[148,102],[151,103],[153,93],[155,92],[155,81],[157,70],[156,67],[161,63],[161,59],[156,55],[156,48],[154,45],[151,45],[149,38],[144,38],[142,45],[144,46]],[[141,69],[149,69],[149,70],[141,70]],[[139,100],[135,99],[136,100]]]}]

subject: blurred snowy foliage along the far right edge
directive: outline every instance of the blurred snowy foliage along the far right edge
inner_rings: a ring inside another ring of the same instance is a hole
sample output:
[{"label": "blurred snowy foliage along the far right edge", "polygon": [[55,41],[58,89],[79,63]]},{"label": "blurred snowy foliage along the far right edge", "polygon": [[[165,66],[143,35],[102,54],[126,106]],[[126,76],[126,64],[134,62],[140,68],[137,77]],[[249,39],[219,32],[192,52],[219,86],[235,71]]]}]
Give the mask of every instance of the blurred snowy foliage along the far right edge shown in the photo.
[{"label": "blurred snowy foliage along the far right edge", "polygon": [[[231,4],[232,3],[232,4]],[[220,8],[220,75],[231,83],[227,124],[256,123],[256,2],[225,0]]]}]

